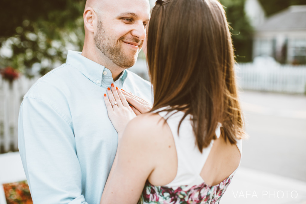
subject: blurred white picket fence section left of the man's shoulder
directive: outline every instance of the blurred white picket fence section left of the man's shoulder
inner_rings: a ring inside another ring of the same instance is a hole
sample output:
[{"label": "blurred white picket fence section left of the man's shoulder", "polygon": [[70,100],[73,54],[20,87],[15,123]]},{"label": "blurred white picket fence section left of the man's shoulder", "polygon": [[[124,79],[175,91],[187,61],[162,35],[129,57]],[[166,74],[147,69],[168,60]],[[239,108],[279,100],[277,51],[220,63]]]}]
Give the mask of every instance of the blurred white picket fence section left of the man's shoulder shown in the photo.
[{"label": "blurred white picket fence section left of the man's shoulder", "polygon": [[10,84],[0,76],[0,153],[17,151],[17,121],[24,94],[35,79],[21,76]]}]

